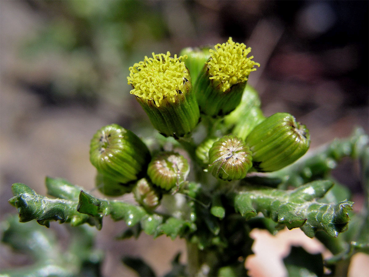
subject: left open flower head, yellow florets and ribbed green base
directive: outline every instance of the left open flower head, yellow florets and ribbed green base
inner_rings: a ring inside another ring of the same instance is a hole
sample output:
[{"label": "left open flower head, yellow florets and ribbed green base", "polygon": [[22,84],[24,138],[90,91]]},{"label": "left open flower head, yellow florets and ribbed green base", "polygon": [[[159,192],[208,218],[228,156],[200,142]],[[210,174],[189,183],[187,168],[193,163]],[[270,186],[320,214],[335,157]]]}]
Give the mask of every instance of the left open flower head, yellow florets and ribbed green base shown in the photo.
[{"label": "left open flower head, yellow florets and ribbed green base", "polygon": [[189,134],[199,123],[200,112],[192,92],[189,71],[182,56],[170,53],[145,57],[130,67],[131,94],[145,110],[152,125],[164,136]]}]

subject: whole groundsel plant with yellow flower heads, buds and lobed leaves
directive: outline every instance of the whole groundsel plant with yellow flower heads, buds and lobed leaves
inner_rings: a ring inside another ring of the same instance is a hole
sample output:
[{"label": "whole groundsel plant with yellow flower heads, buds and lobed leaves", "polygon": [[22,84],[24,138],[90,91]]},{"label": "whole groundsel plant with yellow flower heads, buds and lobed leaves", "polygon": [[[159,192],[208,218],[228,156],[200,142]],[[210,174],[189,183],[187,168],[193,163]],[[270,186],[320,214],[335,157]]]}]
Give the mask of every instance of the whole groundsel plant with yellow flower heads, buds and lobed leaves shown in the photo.
[{"label": "whole groundsel plant with yellow flower heads, buds and lobed leaves", "polygon": [[[284,260],[290,276],[347,273],[350,257],[368,252],[367,202],[361,213],[352,213],[349,192],[330,172],[343,157],[359,161],[368,192],[368,137],[358,129],[304,155],[310,146],[306,126],[288,113],[263,115],[258,93],[247,84],[260,66],[250,53],[250,47],[229,38],[213,48],[184,48],[179,56],[152,53],[131,66],[131,94],[158,131],[155,140],[110,124],[93,136],[90,161],[100,192],[132,193],[137,204],[96,198],[48,177],[52,197],[25,184],[12,185],[9,203],[19,221],[34,219],[46,227],[52,220],[87,223],[100,230],[103,217],[110,215],[128,225],[121,239],[141,232],[181,237],[187,264],[176,256],[167,276],[246,276],[252,229],[276,234],[285,227],[301,228],[333,256],[323,261],[320,254],[293,249]],[[182,204],[170,205],[179,200]],[[350,218],[358,224],[349,224]],[[89,256],[83,257],[86,263]],[[142,260],[123,261],[140,276],[155,275]],[[29,274],[45,272],[37,264],[32,269]],[[81,272],[63,270],[57,275]]]}]

